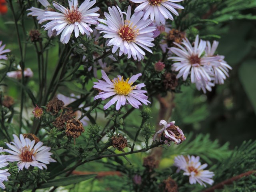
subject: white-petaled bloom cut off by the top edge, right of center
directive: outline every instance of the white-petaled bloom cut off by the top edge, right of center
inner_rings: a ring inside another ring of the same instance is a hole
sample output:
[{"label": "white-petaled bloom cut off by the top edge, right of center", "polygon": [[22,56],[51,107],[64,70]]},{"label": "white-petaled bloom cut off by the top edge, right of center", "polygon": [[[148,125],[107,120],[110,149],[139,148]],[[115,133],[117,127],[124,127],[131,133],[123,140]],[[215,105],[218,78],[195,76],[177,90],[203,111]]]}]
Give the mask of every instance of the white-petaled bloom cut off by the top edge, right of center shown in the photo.
[{"label": "white-petaled bloom cut off by the top edge, right of center", "polygon": [[178,5],[174,2],[181,2],[184,0],[130,0],[134,3],[141,3],[134,11],[139,12],[145,10],[143,16],[144,20],[147,20],[150,16],[150,19],[156,21],[156,24],[159,25],[160,22],[164,25],[166,19],[173,20],[174,15],[178,16],[178,12],[175,9],[184,9],[183,6]]}]

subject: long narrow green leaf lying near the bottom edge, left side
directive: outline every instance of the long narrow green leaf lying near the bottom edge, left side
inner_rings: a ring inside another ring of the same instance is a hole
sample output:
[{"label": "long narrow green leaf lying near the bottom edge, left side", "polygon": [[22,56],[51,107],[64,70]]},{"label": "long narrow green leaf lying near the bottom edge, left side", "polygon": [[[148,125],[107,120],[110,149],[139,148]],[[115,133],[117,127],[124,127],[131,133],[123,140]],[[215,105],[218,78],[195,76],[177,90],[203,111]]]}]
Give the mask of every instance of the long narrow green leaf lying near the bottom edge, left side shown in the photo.
[{"label": "long narrow green leaf lying near the bottom edge, left side", "polygon": [[76,175],[76,176],[70,176],[70,177],[63,177],[59,179],[53,179],[49,180],[47,183],[44,183],[40,185],[39,188],[46,188],[46,187],[58,187],[58,186],[66,186],[70,184],[79,183],[85,180],[88,180],[90,178],[94,178],[96,174],[90,174],[90,175]]}]

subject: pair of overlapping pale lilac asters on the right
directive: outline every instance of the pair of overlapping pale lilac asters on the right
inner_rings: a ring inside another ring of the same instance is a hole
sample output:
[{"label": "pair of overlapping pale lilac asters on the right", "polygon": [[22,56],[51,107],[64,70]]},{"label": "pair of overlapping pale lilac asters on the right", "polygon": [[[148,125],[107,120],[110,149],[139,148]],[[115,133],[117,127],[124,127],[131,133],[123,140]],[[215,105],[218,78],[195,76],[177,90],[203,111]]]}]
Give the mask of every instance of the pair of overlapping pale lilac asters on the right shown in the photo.
[{"label": "pair of overlapping pale lilac asters on the right", "polygon": [[184,47],[176,42],[174,44],[177,47],[170,50],[176,56],[168,59],[176,61],[172,64],[172,70],[179,72],[176,78],[182,76],[183,80],[186,80],[190,74],[191,82],[204,93],[206,90],[211,91],[215,84],[224,83],[228,70],[232,68],[224,61],[224,56],[214,55],[218,42],[214,41],[211,46],[210,42],[199,40],[197,35],[194,46],[187,38],[182,42]]}]

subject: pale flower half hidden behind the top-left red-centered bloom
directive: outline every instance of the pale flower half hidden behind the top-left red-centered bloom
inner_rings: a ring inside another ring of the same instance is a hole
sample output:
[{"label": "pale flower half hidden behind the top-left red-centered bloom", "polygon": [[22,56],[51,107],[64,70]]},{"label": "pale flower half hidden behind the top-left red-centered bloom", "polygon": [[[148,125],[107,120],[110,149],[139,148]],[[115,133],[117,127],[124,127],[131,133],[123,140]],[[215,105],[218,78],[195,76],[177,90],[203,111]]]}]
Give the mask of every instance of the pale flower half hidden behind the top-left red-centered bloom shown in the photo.
[{"label": "pale flower half hidden behind the top-left red-centered bloom", "polygon": [[[49,7],[51,4],[47,0],[38,0],[38,2],[40,2],[40,4],[42,4],[42,6],[45,7],[45,9],[31,7],[30,9],[27,9],[27,11],[31,11],[30,13],[28,13],[28,16],[31,15],[33,17],[36,17],[36,19],[38,20],[38,23],[41,24],[43,22],[43,19],[45,18],[44,13],[46,11],[54,11],[54,10]],[[54,32],[52,32],[52,29],[48,29],[47,33],[48,33],[48,37],[52,37],[52,35],[54,34]]]}]

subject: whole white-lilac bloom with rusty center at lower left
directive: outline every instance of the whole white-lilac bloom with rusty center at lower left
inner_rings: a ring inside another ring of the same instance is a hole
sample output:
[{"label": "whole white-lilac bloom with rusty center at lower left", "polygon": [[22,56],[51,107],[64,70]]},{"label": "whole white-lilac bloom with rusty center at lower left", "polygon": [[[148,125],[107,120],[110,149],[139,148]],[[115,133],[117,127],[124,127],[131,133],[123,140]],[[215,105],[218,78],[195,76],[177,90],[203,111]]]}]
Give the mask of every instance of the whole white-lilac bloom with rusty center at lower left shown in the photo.
[{"label": "whole white-lilac bloom with rusty center at lower left", "polygon": [[4,149],[3,151],[12,154],[6,155],[7,161],[18,161],[19,170],[23,170],[24,167],[28,169],[30,166],[47,169],[46,164],[56,162],[51,158],[52,153],[49,152],[51,148],[43,146],[42,142],[39,141],[35,145],[35,140],[24,138],[22,134],[20,134],[20,138],[15,134],[13,137],[13,142],[6,143],[10,150]]}]

